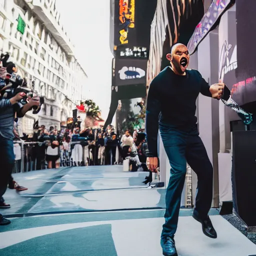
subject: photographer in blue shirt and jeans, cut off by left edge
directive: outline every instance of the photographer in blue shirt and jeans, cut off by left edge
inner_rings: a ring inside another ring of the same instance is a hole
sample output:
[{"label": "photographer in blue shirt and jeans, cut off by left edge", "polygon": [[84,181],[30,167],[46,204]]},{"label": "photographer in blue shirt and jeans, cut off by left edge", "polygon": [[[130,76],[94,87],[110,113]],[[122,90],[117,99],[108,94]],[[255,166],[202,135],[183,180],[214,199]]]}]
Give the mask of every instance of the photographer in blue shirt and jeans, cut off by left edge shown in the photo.
[{"label": "photographer in blue shirt and jeans, cut off by left edge", "polygon": [[[25,96],[20,92],[10,99],[0,97],[0,155],[2,156],[0,168],[0,197],[5,193],[10,173],[14,165],[13,152],[13,123],[17,117],[23,117],[33,106],[39,106],[39,98],[32,97],[29,102],[22,105],[19,101]],[[0,225],[7,225],[10,221],[0,214]]]}]

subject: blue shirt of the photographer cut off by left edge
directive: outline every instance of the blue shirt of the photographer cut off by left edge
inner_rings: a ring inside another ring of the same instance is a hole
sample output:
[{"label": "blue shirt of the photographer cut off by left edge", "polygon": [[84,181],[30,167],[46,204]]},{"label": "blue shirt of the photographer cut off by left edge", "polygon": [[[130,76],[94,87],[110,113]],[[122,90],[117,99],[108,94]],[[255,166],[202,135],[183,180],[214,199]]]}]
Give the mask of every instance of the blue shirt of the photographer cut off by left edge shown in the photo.
[{"label": "blue shirt of the photographer cut off by left edge", "polygon": [[21,103],[11,105],[9,99],[0,98],[0,136],[7,139],[13,139],[13,124],[15,112],[17,117],[22,117],[20,109]]}]

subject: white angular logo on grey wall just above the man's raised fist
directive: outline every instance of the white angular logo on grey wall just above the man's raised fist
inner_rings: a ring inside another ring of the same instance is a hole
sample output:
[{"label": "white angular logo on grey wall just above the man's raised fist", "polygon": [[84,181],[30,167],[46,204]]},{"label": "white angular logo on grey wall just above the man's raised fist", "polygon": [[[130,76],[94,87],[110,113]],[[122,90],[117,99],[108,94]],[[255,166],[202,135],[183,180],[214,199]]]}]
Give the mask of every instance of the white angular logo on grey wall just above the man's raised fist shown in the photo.
[{"label": "white angular logo on grey wall just above the man's raised fist", "polygon": [[218,78],[220,80],[223,80],[226,73],[237,68],[237,47],[235,45],[233,50],[230,51],[231,48],[232,45],[225,40],[219,58]]}]

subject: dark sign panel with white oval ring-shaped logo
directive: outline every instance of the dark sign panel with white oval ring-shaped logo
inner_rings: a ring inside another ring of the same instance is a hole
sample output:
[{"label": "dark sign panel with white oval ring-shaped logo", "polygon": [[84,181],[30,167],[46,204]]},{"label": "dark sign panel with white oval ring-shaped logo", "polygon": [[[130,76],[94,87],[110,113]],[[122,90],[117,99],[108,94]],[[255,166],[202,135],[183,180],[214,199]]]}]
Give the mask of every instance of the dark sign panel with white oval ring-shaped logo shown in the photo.
[{"label": "dark sign panel with white oval ring-shaped logo", "polygon": [[146,82],[146,59],[115,59],[115,86]]}]

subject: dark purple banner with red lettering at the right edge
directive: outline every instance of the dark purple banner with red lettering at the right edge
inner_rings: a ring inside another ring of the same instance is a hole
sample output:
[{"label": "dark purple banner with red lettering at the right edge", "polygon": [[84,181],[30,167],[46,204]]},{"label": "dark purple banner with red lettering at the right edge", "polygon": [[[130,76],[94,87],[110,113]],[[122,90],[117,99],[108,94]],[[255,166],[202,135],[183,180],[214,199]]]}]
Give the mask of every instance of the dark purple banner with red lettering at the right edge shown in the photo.
[{"label": "dark purple banner with red lettering at the right edge", "polygon": [[256,113],[255,8],[255,1],[236,0],[237,80],[232,97],[251,113]]}]

